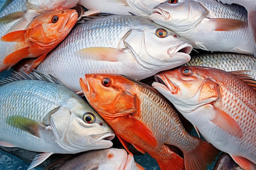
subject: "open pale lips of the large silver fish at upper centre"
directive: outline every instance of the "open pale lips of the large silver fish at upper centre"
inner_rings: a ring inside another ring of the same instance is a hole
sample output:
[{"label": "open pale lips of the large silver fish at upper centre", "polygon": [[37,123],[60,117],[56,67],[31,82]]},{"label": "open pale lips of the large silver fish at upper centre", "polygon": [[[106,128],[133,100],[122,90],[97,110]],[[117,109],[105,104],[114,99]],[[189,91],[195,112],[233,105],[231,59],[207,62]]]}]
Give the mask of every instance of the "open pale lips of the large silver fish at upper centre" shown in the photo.
[{"label": "open pale lips of the large silver fish at upper centre", "polygon": [[[176,47],[176,48],[175,48]],[[168,55],[173,57],[175,55],[180,55],[186,57],[187,62],[191,59],[190,53],[193,50],[193,46],[189,42],[184,42],[182,44],[177,44],[168,49]]]}]

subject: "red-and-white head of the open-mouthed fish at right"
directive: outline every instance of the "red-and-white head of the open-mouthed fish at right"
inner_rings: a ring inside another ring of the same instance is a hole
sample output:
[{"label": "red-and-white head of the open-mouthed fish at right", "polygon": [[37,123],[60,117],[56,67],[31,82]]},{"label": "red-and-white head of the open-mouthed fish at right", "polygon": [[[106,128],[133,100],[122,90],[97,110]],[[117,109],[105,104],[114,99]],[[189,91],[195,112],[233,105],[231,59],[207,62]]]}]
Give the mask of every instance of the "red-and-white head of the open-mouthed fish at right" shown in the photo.
[{"label": "red-and-white head of the open-mouthed fish at right", "polygon": [[152,86],[170,100],[182,113],[190,113],[196,108],[219,98],[218,84],[211,79],[211,68],[200,66],[180,66],[157,73],[157,82]]}]

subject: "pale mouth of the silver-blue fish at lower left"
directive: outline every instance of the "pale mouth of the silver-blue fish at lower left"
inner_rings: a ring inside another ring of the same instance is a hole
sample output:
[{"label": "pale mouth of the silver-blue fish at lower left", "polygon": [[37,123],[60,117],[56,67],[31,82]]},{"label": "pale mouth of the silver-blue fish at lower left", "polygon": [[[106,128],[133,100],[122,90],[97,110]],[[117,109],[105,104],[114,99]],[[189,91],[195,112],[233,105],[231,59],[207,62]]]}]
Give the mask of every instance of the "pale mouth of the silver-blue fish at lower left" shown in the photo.
[{"label": "pale mouth of the silver-blue fish at lower left", "polygon": [[93,135],[92,137],[90,137],[90,143],[91,144],[106,144],[109,147],[111,147],[113,145],[112,143],[112,139],[114,139],[115,137],[115,133],[110,131],[110,132],[105,132],[105,133],[101,133],[98,135]]}]

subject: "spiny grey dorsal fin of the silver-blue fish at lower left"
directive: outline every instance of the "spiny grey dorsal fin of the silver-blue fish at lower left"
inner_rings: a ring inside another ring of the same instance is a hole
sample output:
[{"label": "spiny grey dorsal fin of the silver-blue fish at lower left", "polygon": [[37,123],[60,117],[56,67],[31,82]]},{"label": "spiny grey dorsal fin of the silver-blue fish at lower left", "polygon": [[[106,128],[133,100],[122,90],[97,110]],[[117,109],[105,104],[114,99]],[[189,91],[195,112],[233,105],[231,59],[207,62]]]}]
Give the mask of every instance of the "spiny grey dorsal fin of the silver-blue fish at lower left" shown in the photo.
[{"label": "spiny grey dorsal fin of the silver-blue fish at lower left", "polygon": [[34,70],[34,69],[31,69],[31,70],[32,71],[27,71],[28,73],[25,73],[23,71],[20,71],[20,72],[14,71],[14,73],[11,73],[12,74],[11,77],[7,77],[5,79],[0,80],[0,86],[2,86],[4,84],[8,84],[10,82],[22,80],[22,79],[36,79],[36,80],[41,80],[41,81],[45,81],[45,82],[63,85],[59,79],[56,79],[52,75],[47,76],[43,73],[40,73],[37,70]]}]

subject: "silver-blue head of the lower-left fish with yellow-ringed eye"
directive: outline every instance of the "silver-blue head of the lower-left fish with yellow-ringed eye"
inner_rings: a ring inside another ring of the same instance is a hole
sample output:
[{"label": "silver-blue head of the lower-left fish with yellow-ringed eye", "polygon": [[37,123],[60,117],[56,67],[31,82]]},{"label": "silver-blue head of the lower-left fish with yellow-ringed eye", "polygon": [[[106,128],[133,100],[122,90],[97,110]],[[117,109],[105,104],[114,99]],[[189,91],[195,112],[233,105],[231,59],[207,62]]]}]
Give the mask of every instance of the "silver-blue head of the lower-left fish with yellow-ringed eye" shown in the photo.
[{"label": "silver-blue head of the lower-left fish with yellow-ringed eye", "polygon": [[83,99],[68,103],[50,115],[58,144],[70,153],[110,148],[115,134],[99,114]]}]

